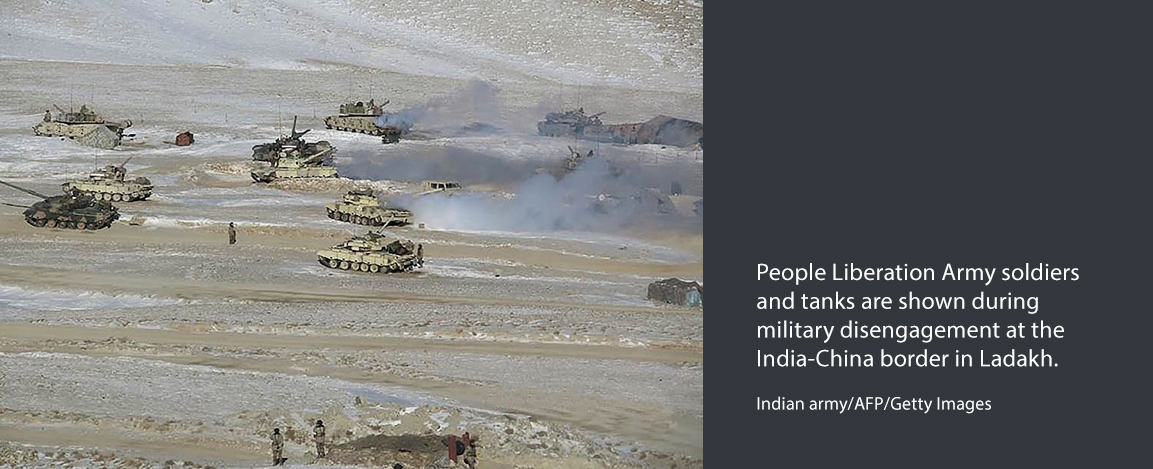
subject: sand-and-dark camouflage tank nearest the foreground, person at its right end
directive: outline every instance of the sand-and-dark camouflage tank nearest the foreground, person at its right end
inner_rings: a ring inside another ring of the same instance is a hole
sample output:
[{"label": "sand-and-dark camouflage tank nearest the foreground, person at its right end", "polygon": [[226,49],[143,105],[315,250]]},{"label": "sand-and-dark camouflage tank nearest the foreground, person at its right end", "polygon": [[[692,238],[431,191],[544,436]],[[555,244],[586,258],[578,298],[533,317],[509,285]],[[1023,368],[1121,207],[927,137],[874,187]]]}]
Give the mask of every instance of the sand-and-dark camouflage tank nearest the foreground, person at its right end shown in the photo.
[{"label": "sand-and-dark camouflage tank nearest the foreground, person at its right end", "polygon": [[424,264],[421,249],[412,241],[368,232],[316,252],[317,260],[329,268],[371,273],[407,272]]}]

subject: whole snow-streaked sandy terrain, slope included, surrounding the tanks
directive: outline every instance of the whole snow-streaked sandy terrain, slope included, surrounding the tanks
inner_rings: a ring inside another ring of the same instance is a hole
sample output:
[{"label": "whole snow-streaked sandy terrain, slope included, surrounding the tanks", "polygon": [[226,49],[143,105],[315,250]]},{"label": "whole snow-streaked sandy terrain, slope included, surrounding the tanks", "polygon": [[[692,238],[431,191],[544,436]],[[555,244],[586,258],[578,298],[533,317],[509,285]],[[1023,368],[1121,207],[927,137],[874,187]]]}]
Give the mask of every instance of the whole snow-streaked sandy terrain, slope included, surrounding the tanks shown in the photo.
[{"label": "whole snow-streaked sandy terrain, slope included, surrounding the tanks", "polygon": [[[703,281],[703,151],[535,128],[576,106],[702,120],[700,2],[440,3],[0,7],[0,180],[54,195],[131,158],[156,184],[98,232],[0,209],[0,467],[262,467],[272,428],[289,466],[374,466],[316,460],[316,418],[330,445],[468,431],[482,468],[703,464],[702,310],[645,298]],[[579,36],[613,46],[562,40]],[[324,128],[369,96],[419,115],[413,134]],[[32,135],[81,103],[133,120],[130,138]],[[253,183],[253,145],[293,116],[342,177]],[[166,143],[184,130],[196,144]],[[601,162],[549,176],[570,145]],[[431,179],[466,190],[415,196]],[[423,227],[385,232],[422,243],[423,268],[317,263],[364,230],[324,212],[356,187],[414,211]]]}]

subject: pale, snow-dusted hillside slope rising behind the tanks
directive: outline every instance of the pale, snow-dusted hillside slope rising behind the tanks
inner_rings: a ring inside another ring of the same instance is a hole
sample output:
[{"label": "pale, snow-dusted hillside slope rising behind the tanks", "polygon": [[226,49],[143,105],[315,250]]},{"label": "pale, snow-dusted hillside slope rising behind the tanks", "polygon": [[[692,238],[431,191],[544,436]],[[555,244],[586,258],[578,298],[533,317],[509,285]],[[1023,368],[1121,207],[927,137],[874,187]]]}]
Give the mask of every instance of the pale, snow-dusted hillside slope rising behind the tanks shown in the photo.
[{"label": "pale, snow-dusted hillside slope rising behind the tanks", "polygon": [[700,89],[700,0],[13,0],[0,58]]}]

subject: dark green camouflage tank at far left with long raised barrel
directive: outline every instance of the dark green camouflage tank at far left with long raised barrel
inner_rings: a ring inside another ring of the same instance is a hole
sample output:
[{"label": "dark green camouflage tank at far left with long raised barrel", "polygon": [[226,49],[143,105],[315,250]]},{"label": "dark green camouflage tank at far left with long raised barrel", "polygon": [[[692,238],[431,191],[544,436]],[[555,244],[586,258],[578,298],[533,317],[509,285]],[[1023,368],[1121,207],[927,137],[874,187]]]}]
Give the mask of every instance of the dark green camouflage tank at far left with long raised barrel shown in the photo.
[{"label": "dark green camouflage tank at far left with long raised barrel", "polygon": [[43,198],[30,206],[5,203],[27,209],[24,221],[38,228],[100,229],[112,226],[112,222],[120,218],[120,212],[112,203],[97,201],[96,197],[78,190],[50,197],[8,182],[0,181],[0,184]]}]

